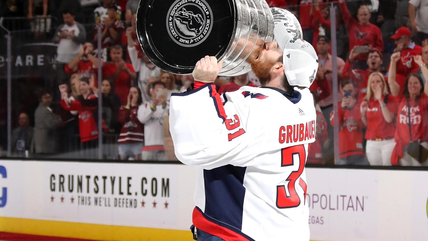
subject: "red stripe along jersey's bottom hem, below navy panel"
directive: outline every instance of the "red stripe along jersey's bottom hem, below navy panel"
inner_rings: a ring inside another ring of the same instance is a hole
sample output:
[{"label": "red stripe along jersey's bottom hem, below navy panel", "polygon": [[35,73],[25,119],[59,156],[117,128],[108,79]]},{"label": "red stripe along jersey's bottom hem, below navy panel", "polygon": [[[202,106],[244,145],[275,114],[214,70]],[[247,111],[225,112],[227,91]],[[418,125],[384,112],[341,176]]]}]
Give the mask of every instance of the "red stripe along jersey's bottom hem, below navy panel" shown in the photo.
[{"label": "red stripe along jersey's bottom hem, below navy panel", "polygon": [[226,241],[250,241],[249,239],[236,232],[233,232],[230,229],[207,220],[197,208],[193,209],[192,219],[193,225],[195,225],[197,229],[201,229],[204,232],[208,232],[209,234],[222,238]]}]

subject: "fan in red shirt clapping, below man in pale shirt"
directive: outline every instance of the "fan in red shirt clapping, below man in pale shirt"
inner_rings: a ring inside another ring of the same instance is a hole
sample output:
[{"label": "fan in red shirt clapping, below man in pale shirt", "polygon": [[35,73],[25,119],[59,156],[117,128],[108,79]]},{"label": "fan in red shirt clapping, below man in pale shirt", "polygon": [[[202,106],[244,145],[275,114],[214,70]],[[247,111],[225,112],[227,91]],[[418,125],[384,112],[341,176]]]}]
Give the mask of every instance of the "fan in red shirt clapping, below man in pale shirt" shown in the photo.
[{"label": "fan in red shirt clapping, below man in pale shirt", "polygon": [[95,77],[97,83],[98,59],[94,56],[94,46],[90,42],[80,46],[80,52],[74,59],[64,65],[65,73],[79,74],[80,77]]}]

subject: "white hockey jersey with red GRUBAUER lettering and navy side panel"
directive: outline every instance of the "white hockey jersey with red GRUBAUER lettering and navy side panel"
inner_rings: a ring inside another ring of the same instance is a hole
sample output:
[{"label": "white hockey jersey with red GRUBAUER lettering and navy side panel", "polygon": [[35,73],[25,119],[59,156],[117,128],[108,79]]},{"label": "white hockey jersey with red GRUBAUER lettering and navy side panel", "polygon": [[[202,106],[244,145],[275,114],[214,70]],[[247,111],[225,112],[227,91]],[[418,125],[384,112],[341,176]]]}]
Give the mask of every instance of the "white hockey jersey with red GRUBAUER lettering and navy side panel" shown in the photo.
[{"label": "white hockey jersey with red GRUBAUER lettering and navy side panel", "polygon": [[196,228],[226,241],[309,240],[309,89],[243,86],[220,97],[207,84],[173,94],[169,114],[175,155],[198,168]]}]

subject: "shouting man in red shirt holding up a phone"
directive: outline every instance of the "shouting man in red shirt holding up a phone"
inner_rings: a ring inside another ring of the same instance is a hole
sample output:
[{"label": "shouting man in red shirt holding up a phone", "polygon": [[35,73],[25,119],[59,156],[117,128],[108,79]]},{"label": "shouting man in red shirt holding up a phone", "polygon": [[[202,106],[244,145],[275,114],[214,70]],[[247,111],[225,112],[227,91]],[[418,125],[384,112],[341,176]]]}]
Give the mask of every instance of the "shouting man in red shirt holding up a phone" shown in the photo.
[{"label": "shouting man in red shirt holding up a phone", "polygon": [[[366,97],[367,93],[367,81],[369,80],[370,74],[374,72],[380,72],[380,66],[383,63],[382,54],[376,49],[372,49],[369,51],[369,55],[367,57],[367,65],[368,69],[352,69],[352,63],[354,62],[354,58],[357,54],[355,54],[354,49],[349,53],[349,58],[346,60],[345,67],[342,70],[342,76],[346,79],[350,78],[354,81],[355,87],[358,92],[358,102],[363,101],[363,98]],[[385,75],[383,77],[386,80]]]}]

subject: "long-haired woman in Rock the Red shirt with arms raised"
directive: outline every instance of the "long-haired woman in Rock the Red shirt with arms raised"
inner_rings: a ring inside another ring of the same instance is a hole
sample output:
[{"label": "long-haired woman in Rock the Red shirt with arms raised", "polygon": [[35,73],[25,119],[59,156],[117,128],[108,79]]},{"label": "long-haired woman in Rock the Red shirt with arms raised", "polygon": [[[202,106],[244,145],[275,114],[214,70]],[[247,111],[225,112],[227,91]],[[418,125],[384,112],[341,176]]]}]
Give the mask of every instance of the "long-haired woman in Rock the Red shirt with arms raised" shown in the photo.
[{"label": "long-haired woman in Rock the Red shirt with arms raised", "polygon": [[[399,57],[392,61],[398,60]],[[416,56],[413,60],[421,66],[422,74],[427,79],[428,69],[422,62],[422,57]],[[399,102],[395,131],[396,144],[392,152],[391,164],[428,166],[428,84],[425,83],[424,88],[419,74],[409,74],[404,84],[404,91],[400,94],[401,86],[395,82],[393,71],[393,67],[389,69],[389,83],[392,95],[397,96]]]}]

